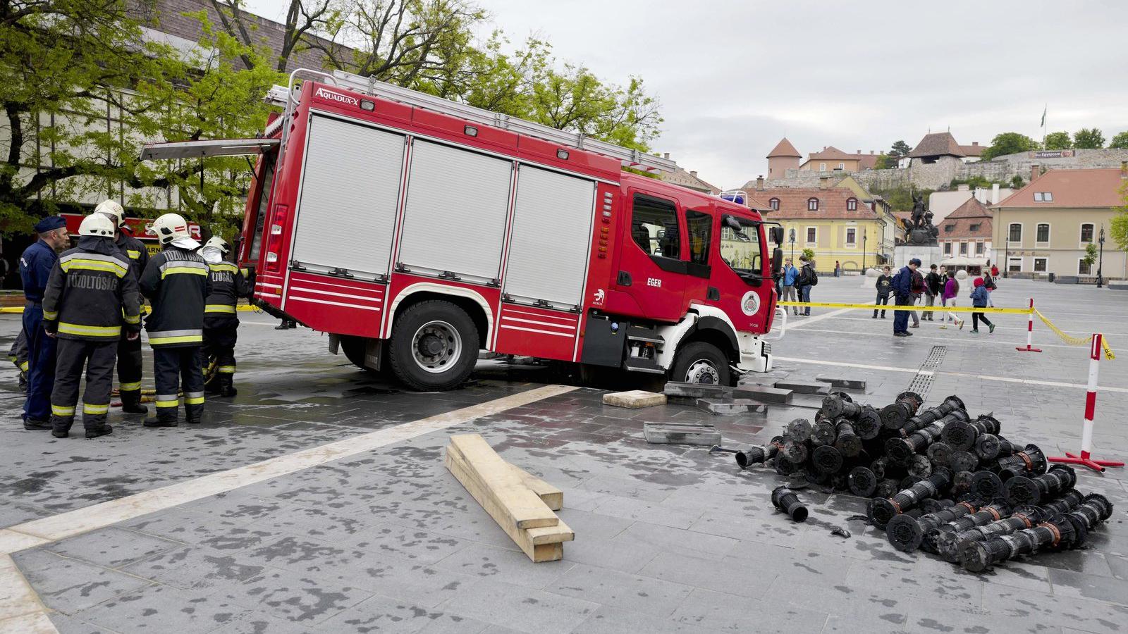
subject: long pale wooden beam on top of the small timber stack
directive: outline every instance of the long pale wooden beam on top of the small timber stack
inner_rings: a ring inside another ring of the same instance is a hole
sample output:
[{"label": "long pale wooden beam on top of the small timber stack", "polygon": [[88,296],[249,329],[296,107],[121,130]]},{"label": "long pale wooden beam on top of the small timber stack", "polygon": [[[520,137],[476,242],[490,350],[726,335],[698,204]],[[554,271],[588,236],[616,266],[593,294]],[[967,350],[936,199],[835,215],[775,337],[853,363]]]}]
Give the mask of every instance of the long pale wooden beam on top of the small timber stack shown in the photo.
[{"label": "long pale wooden beam on top of the small timber stack", "polygon": [[481,435],[476,433],[452,435],[450,443],[458,448],[467,468],[493,492],[517,528],[556,526],[559,521],[556,513],[525,486],[510,464],[503,460]]}]

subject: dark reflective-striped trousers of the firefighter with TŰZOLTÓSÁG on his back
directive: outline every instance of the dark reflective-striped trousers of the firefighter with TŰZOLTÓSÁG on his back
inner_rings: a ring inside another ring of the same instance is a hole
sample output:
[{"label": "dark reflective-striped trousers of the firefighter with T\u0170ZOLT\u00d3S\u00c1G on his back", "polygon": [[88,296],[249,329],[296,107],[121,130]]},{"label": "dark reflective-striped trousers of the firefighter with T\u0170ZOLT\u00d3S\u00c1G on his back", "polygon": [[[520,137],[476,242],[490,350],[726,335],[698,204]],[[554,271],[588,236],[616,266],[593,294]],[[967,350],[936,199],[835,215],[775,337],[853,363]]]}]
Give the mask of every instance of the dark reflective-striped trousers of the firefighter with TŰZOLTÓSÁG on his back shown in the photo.
[{"label": "dark reflective-striped trousers of the firefighter with T\u0170ZOLT\u00d3S\u00c1G on his back", "polygon": [[55,387],[51,391],[51,426],[70,431],[74,424],[78,387],[86,368],[86,390],[82,393],[82,426],[102,431],[109,412],[109,391],[114,387],[116,341],[59,340],[55,355]]}]

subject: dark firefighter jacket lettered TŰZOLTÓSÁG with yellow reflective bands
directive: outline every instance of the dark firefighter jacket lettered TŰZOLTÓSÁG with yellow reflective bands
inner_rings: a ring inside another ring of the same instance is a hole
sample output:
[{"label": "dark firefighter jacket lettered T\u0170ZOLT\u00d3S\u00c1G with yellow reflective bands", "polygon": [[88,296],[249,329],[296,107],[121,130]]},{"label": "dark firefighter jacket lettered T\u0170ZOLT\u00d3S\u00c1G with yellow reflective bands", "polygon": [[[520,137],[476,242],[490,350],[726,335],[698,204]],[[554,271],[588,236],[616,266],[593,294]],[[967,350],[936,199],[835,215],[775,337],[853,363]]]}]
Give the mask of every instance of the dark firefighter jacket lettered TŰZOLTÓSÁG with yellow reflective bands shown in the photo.
[{"label": "dark firefighter jacket lettered T\u0170ZOLT\u00d3S\u00c1G with yellow reflective bands", "polygon": [[43,296],[43,325],[62,338],[117,341],[141,329],[130,262],[109,238],[82,236],[59,256]]}]

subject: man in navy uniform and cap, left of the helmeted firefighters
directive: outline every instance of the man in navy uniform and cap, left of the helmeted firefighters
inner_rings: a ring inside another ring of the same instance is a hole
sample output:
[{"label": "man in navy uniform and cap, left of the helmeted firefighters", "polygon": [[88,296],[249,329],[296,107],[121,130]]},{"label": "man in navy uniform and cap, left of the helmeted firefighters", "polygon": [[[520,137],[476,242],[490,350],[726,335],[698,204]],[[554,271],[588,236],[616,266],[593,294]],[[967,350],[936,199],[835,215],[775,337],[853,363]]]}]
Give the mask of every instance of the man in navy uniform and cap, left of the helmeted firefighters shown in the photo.
[{"label": "man in navy uniform and cap, left of the helmeted firefighters", "polygon": [[35,224],[38,240],[19,257],[24,282],[24,333],[27,336],[27,399],[24,429],[51,429],[51,390],[55,386],[55,340],[43,329],[43,293],[59,253],[70,246],[67,221],[49,215]]}]

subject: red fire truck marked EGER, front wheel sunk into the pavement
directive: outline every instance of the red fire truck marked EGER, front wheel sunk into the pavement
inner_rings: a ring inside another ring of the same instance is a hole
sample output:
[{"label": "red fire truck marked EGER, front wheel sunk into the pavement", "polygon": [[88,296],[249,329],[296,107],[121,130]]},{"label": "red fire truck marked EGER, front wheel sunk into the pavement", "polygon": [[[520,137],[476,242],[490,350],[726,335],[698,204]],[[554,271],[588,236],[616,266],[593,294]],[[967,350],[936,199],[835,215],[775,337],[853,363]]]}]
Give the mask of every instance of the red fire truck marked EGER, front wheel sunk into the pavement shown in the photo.
[{"label": "red fire truck marked EGER, front wheel sunk into the pavement", "polygon": [[142,158],[261,155],[239,263],[356,366],[415,389],[479,350],[726,385],[772,368],[783,231],[623,169],[672,161],[343,72],[272,97],[262,138]]}]

